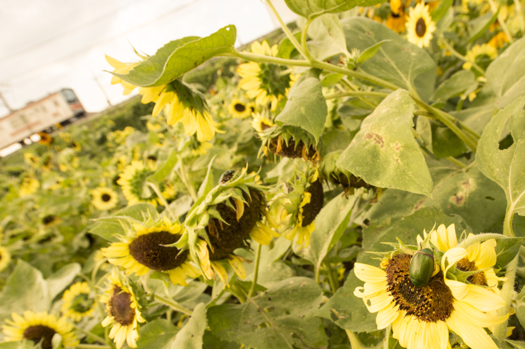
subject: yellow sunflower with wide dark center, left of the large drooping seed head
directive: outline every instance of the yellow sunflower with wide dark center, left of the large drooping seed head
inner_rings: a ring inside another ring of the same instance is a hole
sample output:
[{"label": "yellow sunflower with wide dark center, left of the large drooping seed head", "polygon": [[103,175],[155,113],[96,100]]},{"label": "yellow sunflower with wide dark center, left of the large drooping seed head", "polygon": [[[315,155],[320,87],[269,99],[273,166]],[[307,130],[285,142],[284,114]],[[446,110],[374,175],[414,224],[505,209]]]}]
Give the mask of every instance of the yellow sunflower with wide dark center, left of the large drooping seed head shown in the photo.
[{"label": "yellow sunflower with wide dark center, left of the large drooping seed head", "polygon": [[102,248],[104,257],[112,265],[122,267],[127,273],[144,275],[150,270],[169,274],[173,284],[187,286],[186,277],[197,278],[198,269],[188,258],[189,251],[164,245],[174,244],[181,238],[181,226],[165,218],[153,227],[133,225],[135,236],[122,237],[122,242],[113,242]]}]

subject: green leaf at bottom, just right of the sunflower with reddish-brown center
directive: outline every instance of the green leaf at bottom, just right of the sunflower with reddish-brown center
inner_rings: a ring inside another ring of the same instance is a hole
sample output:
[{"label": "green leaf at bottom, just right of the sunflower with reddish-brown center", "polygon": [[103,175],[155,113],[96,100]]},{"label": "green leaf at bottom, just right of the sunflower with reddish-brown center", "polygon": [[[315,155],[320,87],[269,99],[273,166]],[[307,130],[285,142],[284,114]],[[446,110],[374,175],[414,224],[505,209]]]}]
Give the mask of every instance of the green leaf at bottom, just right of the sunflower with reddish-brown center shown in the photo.
[{"label": "green leaf at bottom, just right of the sunflower with reddish-brown center", "polygon": [[148,322],[140,327],[140,341],[137,342],[137,349],[170,349],[179,331],[176,326],[164,319]]}]

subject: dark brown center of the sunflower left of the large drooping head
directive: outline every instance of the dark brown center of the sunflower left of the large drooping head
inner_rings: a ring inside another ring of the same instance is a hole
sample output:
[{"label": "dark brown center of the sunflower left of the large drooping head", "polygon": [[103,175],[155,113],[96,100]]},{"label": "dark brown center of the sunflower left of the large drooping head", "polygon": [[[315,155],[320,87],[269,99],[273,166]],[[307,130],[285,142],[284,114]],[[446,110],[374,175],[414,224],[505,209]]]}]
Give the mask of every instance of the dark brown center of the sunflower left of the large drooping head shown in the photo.
[{"label": "dark brown center of the sunflower left of the large drooping head", "polygon": [[176,247],[165,247],[176,242],[180,235],[167,231],[150,232],[140,235],[130,244],[130,253],[142,265],[153,270],[171,270],[182,265],[189,253],[188,250],[180,251]]}]

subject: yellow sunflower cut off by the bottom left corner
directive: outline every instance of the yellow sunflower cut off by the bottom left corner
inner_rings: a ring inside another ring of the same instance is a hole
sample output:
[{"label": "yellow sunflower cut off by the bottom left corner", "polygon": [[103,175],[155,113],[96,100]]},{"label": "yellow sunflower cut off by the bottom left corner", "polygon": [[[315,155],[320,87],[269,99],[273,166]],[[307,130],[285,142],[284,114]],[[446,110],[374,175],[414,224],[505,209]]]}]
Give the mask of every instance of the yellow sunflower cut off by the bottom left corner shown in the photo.
[{"label": "yellow sunflower cut off by the bottom left corner", "polygon": [[34,313],[26,310],[24,316],[12,313],[13,320],[5,319],[8,325],[2,325],[6,337],[5,342],[18,342],[23,340],[41,343],[42,349],[52,349],[51,340],[58,333],[62,337],[62,344],[66,347],[75,347],[78,340],[72,332],[73,326],[66,318],[57,319],[55,315],[47,313]]}]

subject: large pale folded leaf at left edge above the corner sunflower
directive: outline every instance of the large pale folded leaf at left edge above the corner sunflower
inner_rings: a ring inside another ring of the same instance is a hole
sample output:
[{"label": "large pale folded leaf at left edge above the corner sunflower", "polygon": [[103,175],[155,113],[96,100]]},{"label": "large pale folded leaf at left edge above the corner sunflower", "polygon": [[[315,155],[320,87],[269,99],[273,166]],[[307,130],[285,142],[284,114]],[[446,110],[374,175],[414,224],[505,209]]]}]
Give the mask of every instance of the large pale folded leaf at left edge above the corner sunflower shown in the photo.
[{"label": "large pale folded leaf at left edge above the corner sunflower", "polygon": [[19,259],[0,293],[0,323],[11,313],[49,311],[51,301],[80,272],[78,263],[66,265],[45,280],[42,273]]}]

